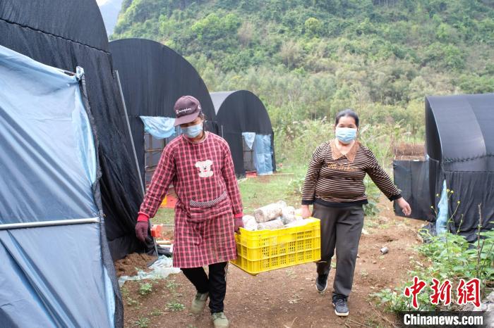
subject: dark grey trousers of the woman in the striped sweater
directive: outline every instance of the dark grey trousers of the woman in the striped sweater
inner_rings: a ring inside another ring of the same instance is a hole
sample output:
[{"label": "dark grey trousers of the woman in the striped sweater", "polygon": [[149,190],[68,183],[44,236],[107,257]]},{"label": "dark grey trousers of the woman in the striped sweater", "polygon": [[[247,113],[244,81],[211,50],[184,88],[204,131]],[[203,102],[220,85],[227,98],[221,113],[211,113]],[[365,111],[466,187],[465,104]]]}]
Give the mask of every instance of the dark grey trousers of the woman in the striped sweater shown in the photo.
[{"label": "dark grey trousers of the woman in the striped sweater", "polygon": [[362,205],[343,208],[314,204],[313,217],[321,220],[321,260],[318,275],[330,273],[336,248],[336,275],[333,296],[347,298],[354,282],[354,270],[363,227]]}]

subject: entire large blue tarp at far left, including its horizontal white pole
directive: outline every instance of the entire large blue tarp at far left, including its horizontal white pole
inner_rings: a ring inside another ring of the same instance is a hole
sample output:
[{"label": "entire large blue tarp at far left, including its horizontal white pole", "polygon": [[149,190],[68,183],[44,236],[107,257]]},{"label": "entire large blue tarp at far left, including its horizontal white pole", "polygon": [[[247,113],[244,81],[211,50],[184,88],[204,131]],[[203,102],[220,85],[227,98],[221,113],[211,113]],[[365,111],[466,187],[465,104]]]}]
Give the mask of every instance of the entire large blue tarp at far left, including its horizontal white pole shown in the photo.
[{"label": "entire large blue tarp at far left, including its horizontal white pole", "polygon": [[0,326],[113,327],[78,76],[0,46],[0,139]]}]

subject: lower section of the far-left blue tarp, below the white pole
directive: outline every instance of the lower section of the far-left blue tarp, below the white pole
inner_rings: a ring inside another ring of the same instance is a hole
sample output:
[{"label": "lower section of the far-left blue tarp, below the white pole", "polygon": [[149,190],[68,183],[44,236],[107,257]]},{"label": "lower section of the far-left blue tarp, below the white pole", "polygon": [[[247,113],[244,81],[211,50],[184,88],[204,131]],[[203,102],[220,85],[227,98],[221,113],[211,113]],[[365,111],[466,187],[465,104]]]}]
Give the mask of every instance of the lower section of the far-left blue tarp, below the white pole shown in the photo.
[{"label": "lower section of the far-left blue tarp, below the white pole", "polygon": [[113,327],[100,225],[0,230],[0,327]]}]

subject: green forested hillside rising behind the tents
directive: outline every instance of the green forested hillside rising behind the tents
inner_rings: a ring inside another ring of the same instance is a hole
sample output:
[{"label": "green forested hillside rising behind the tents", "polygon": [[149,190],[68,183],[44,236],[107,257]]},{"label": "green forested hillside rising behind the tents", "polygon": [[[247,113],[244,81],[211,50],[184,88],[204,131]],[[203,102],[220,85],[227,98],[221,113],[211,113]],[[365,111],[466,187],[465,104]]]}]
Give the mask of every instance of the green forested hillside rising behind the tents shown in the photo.
[{"label": "green forested hillside rising behind the tents", "polygon": [[493,0],[124,0],[125,37],[186,56],[210,91],[252,90],[286,133],[351,107],[420,139],[425,95],[494,92]]}]

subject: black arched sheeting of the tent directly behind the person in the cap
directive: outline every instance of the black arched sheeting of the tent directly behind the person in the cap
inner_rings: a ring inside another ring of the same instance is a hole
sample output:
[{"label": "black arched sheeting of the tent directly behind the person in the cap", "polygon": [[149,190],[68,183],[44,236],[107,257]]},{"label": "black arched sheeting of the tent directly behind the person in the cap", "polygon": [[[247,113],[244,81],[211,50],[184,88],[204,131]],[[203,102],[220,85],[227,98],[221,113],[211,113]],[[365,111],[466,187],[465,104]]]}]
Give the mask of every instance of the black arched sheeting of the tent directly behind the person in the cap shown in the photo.
[{"label": "black arched sheeting of the tent directly behind the person in the cap", "polygon": [[[205,125],[206,130],[217,133],[215,108],[195,68],[169,47],[147,39],[120,39],[110,42],[109,47],[114,69],[119,72],[135,153],[144,181],[144,125],[139,116],[174,118],[176,100],[191,95],[200,101],[203,113],[210,122]],[[128,146],[131,147],[130,144]]]}]

